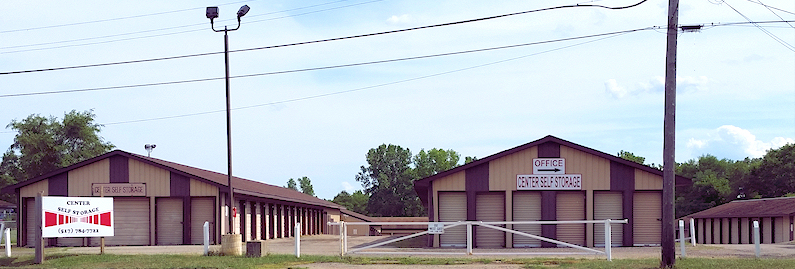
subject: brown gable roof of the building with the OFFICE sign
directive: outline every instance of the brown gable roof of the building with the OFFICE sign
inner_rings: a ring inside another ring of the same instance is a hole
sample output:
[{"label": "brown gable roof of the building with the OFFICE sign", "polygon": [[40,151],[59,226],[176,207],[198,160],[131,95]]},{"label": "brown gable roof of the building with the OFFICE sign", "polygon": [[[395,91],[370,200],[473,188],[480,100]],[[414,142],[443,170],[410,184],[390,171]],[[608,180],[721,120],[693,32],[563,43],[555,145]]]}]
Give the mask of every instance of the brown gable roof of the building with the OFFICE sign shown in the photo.
[{"label": "brown gable roof of the building with the OFFICE sign", "polygon": [[[601,152],[601,151],[598,151],[598,150],[595,150],[595,149],[592,149],[592,148],[588,148],[588,147],[585,147],[585,146],[574,144],[572,142],[569,142],[569,141],[566,141],[566,140],[563,140],[563,139],[548,135],[548,136],[545,136],[544,138],[541,138],[539,140],[536,140],[536,141],[533,141],[533,142],[530,142],[530,143],[527,143],[527,144],[524,144],[524,145],[521,145],[521,146],[518,146],[518,147],[515,147],[515,148],[504,150],[502,152],[498,152],[496,154],[487,156],[487,157],[485,157],[483,159],[478,159],[478,160],[473,161],[471,163],[464,164],[464,165],[455,167],[453,169],[440,172],[440,173],[438,173],[436,175],[432,175],[432,176],[429,176],[429,177],[426,177],[426,178],[418,179],[418,180],[414,181],[414,190],[418,193],[418,196],[420,196],[420,199],[423,200],[423,203],[425,203],[425,199],[428,199],[428,198],[425,197],[426,195],[422,195],[422,194],[427,192],[427,189],[430,186],[430,182],[433,181],[433,180],[440,179],[440,178],[443,178],[443,177],[446,177],[446,176],[449,176],[449,175],[452,175],[452,174],[455,174],[455,173],[458,173],[458,172],[461,172],[461,171],[465,171],[465,170],[467,170],[469,168],[473,168],[473,167],[476,167],[476,166],[481,165],[481,164],[487,164],[490,161],[493,161],[493,160],[496,160],[496,159],[499,159],[499,158],[502,158],[502,157],[505,157],[505,156],[508,156],[508,155],[511,155],[511,154],[514,154],[514,153],[517,153],[517,152],[520,152],[520,151],[523,151],[523,150],[526,150],[526,149],[541,145],[541,144],[544,144],[544,143],[548,143],[548,142],[552,142],[552,143],[555,143],[555,144],[558,144],[558,145],[563,145],[563,146],[566,146],[566,147],[569,147],[569,148],[573,148],[575,150],[579,150],[579,151],[582,151],[582,152],[585,152],[585,153],[589,153],[589,154],[595,155],[597,157],[601,157],[601,158],[607,159],[609,161],[613,161],[613,162],[617,162],[617,163],[620,163],[620,164],[623,164],[623,165],[627,165],[627,166],[630,166],[630,167],[635,168],[635,169],[640,169],[642,171],[646,171],[646,172],[649,172],[651,174],[663,176],[663,173],[662,173],[661,170],[653,168],[651,166],[642,165],[642,164],[639,164],[639,163],[636,163],[636,162],[633,162],[633,161],[629,161],[629,160],[626,160],[626,159],[623,159],[623,158],[620,158],[620,157],[617,157],[617,156],[614,156],[614,155],[611,155],[611,154],[607,154],[607,153],[604,153],[604,152]],[[687,185],[691,185],[692,184],[692,181],[689,178],[686,178],[686,177],[683,177],[683,176],[679,176],[679,175],[676,176],[676,180],[675,181],[676,181],[676,183],[675,183],[676,186],[687,186]]]}]

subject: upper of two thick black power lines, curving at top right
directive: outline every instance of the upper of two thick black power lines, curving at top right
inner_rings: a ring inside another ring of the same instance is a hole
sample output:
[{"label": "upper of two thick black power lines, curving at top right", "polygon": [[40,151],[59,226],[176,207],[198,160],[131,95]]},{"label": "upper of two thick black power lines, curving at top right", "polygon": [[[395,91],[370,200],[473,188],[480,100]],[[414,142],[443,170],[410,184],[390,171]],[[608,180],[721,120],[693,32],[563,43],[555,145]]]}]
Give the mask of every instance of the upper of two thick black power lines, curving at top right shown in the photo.
[{"label": "upper of two thick black power lines, curving at top right", "polygon": [[[562,8],[595,7],[595,8],[606,8],[606,9],[626,9],[626,8],[631,8],[631,7],[638,6],[640,4],[643,4],[646,1],[648,1],[648,0],[641,0],[638,3],[632,4],[632,5],[629,5],[629,6],[623,6],[623,7],[607,7],[607,6],[602,6],[602,5],[579,5],[579,4],[577,4],[577,5],[564,5],[564,6],[556,6],[556,7],[528,10],[528,11],[522,11],[522,12],[508,13],[508,14],[496,15],[496,16],[491,16],[491,17],[470,19],[470,20],[464,20],[464,21],[448,22],[448,23],[426,25],[426,26],[405,28],[405,29],[392,30],[392,31],[384,31],[384,32],[377,32],[377,33],[370,33],[370,34],[362,34],[362,35],[353,35],[353,36],[346,36],[346,37],[329,38],[329,39],[321,39],[321,40],[314,40],[314,41],[305,41],[305,42],[283,44],[283,45],[275,45],[275,46],[266,46],[266,47],[240,49],[240,50],[231,50],[229,52],[241,52],[241,51],[253,51],[253,50],[283,48],[283,47],[291,47],[291,46],[298,46],[298,45],[306,45],[306,44],[315,44],[315,43],[322,43],[322,42],[354,39],[354,38],[360,38],[360,37],[371,37],[371,36],[377,36],[377,35],[394,34],[394,33],[408,32],[408,31],[414,31],[414,30],[429,29],[429,28],[436,28],[436,27],[443,27],[443,26],[450,26],[450,25],[457,25],[457,24],[464,24],[464,23],[471,23],[471,22],[478,22],[478,21],[485,21],[485,20],[491,20],[491,19],[498,19],[498,18],[504,18],[504,17],[509,17],[509,16],[522,15],[522,14],[528,14],[528,13],[534,13],[534,12],[540,12],[540,11],[555,10],[555,9],[562,9]],[[163,57],[163,58],[151,58],[151,59],[143,59],[143,60],[132,60],[132,61],[123,61],[123,62],[111,62],[111,63],[101,63],[101,64],[77,65],[77,66],[55,67],[55,68],[44,68],[44,69],[22,70],[22,71],[10,71],[10,72],[2,72],[2,73],[0,73],[0,75],[22,74],[22,73],[36,73],[36,72],[46,72],[46,71],[66,70],[66,69],[87,68],[87,67],[99,67],[99,66],[110,66],[110,65],[120,65],[120,64],[154,62],[154,61],[161,61],[161,60],[173,60],[173,59],[181,59],[181,58],[189,58],[189,57],[197,57],[197,56],[207,56],[207,55],[220,54],[220,53],[223,53],[223,52],[208,52],[208,53],[189,54],[189,55]]]}]

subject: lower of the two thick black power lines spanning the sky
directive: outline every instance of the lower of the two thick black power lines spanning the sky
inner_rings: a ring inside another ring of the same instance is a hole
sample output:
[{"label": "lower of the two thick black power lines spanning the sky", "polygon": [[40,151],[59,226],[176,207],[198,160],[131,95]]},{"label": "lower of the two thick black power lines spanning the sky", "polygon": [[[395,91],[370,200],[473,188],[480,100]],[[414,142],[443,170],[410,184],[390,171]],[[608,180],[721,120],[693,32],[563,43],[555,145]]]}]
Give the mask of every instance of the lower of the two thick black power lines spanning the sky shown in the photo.
[{"label": "lower of the two thick black power lines spanning the sky", "polygon": [[[571,41],[571,40],[593,38],[593,37],[601,37],[601,36],[609,36],[609,35],[616,35],[616,34],[626,34],[626,33],[637,32],[637,31],[659,29],[660,27],[661,26],[653,26],[653,27],[638,28],[638,29],[632,29],[632,30],[624,30],[624,31],[617,31],[617,32],[602,33],[602,34],[593,34],[593,35],[585,35],[585,36],[553,39],[553,40],[546,40],[546,41],[539,41],[539,42],[523,43],[523,44],[516,44],[516,45],[507,45],[507,46],[490,47],[490,48],[483,48],[483,49],[474,49],[474,50],[465,50],[465,51],[457,51],[457,52],[430,54],[430,55],[414,56],[414,57],[406,57],[406,58],[396,58],[396,59],[389,59],[389,60],[369,61],[369,62],[360,62],[360,63],[342,64],[342,65],[331,65],[331,66],[323,66],[323,67],[312,67],[312,68],[303,68],[303,69],[292,69],[292,70],[275,71],[275,72],[267,72],[267,73],[256,73],[256,74],[248,74],[248,75],[237,75],[237,76],[231,76],[230,78],[258,77],[258,76],[288,74],[288,73],[307,72],[307,71],[318,71],[318,70],[325,70],[325,69],[353,67],[353,66],[362,66],[362,65],[371,65],[371,64],[391,63],[391,62],[399,62],[399,61],[407,61],[407,60],[419,60],[419,59],[435,58],[435,57],[442,57],[442,56],[460,55],[460,54],[467,54],[467,53],[484,52],[484,51],[492,51],[492,50],[500,50],[500,49],[508,49],[508,48],[517,48],[517,47],[525,47],[525,46],[532,46],[532,45],[556,43],[556,42]],[[221,79],[224,79],[224,78],[223,77],[215,77],[215,78],[179,80],[179,81],[168,81],[168,82],[154,82],[154,83],[144,83],[144,84],[134,84],[134,85],[99,87],[99,88],[84,88],[84,89],[47,91],[47,92],[34,92],[34,93],[15,93],[15,94],[0,95],[0,98],[34,96],[34,95],[49,95],[49,94],[60,94],[60,93],[89,92],[89,91],[103,91],[103,90],[117,90],[117,89],[127,89],[127,88],[151,87],[151,86],[163,86],[163,85],[174,85],[174,84],[204,82],[204,81],[221,80]]]}]

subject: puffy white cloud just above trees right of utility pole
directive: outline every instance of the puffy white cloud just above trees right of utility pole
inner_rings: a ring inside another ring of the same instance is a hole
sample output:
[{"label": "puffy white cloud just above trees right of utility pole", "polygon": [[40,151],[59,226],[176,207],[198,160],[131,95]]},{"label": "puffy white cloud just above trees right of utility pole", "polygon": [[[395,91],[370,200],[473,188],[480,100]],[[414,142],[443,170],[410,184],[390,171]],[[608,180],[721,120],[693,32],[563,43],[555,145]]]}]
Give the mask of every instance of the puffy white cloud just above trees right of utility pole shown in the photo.
[{"label": "puffy white cloud just above trees right of utility pole", "polygon": [[744,159],[759,158],[767,150],[777,149],[787,143],[795,143],[795,139],[776,137],[770,142],[757,140],[750,131],[733,125],[723,125],[710,131],[705,139],[690,138],[687,148],[696,156],[711,154],[718,158]]}]

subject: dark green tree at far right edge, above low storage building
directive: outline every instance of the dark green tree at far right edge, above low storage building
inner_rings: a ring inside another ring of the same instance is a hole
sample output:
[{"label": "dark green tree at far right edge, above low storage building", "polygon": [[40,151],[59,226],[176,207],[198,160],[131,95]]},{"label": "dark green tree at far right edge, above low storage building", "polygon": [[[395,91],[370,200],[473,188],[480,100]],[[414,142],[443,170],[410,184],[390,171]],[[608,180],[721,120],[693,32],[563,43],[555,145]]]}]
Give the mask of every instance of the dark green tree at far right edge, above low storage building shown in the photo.
[{"label": "dark green tree at far right edge, above low storage building", "polygon": [[795,144],[769,150],[741,185],[749,194],[781,197],[795,192]]}]

